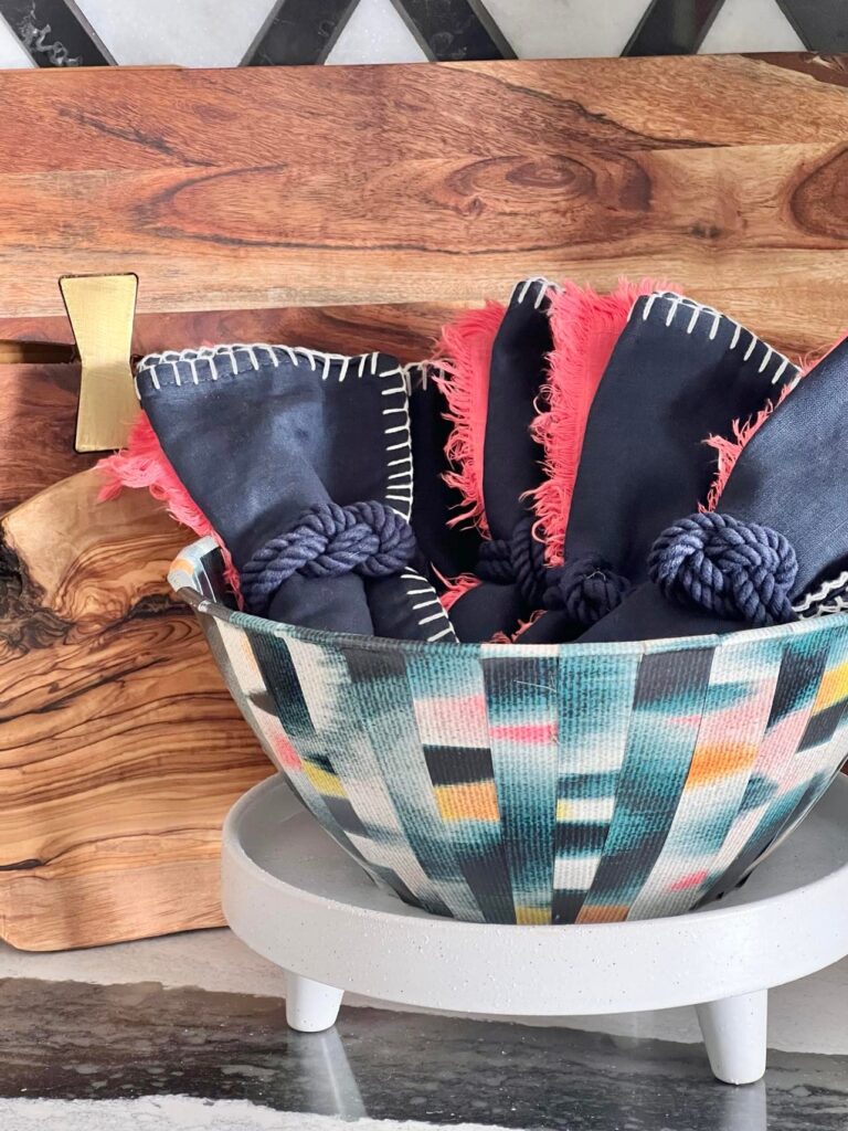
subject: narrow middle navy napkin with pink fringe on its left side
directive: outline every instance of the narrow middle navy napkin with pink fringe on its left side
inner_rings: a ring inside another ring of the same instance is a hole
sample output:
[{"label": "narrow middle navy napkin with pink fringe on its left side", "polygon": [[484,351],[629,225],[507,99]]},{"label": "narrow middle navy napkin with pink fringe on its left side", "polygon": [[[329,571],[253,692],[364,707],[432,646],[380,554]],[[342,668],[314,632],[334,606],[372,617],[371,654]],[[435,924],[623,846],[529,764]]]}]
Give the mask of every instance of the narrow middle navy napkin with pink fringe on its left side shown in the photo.
[{"label": "narrow middle navy napkin with pink fringe on its left side", "polygon": [[544,475],[544,450],[531,424],[553,349],[550,297],[546,279],[523,279],[502,314],[494,304],[483,312],[497,311],[496,329],[493,318],[471,316],[474,347],[466,339],[464,348],[470,363],[455,364],[441,380],[461,438],[448,448],[460,455],[455,482],[484,532],[473,577],[448,601],[460,640],[512,633],[539,605],[544,549],[526,495]]}]

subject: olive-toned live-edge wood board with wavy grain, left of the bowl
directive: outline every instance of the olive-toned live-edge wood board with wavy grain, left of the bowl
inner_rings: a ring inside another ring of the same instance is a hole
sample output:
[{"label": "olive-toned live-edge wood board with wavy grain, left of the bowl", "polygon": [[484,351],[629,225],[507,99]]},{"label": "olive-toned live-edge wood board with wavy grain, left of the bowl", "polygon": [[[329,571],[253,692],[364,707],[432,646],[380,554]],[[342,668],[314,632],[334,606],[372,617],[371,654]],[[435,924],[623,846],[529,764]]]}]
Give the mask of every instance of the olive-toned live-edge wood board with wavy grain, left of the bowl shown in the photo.
[{"label": "olive-toned live-edge wood board with wavy grain, left of the bowl", "polygon": [[164,582],[185,542],[96,472],[0,524],[0,938],[220,924],[220,823],[270,763]]}]

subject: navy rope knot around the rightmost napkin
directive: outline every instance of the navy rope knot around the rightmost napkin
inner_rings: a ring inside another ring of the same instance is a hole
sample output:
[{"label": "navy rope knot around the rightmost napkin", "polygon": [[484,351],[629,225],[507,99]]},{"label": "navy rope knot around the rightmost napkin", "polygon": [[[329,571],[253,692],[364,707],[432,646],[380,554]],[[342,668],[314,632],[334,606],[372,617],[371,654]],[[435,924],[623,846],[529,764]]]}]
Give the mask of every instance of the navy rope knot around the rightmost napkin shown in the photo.
[{"label": "navy rope knot around the rightmost napkin", "polygon": [[648,558],[665,597],[755,628],[795,620],[797,572],[795,550],[778,530],[715,511],[669,526]]}]

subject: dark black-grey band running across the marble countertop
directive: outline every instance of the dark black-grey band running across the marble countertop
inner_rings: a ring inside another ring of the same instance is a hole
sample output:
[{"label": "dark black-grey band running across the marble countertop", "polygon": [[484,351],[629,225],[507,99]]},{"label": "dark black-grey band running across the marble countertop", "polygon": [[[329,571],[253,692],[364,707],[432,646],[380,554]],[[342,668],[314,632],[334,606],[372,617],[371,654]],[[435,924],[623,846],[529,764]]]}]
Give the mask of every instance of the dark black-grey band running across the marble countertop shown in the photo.
[{"label": "dark black-grey band running across the marble countertop", "polygon": [[845,1131],[848,1057],[770,1052],[764,1085],[701,1045],[344,1009],[286,1028],[277,999],[155,984],[0,981],[0,1096],[248,1099],[355,1120],[562,1131]]}]

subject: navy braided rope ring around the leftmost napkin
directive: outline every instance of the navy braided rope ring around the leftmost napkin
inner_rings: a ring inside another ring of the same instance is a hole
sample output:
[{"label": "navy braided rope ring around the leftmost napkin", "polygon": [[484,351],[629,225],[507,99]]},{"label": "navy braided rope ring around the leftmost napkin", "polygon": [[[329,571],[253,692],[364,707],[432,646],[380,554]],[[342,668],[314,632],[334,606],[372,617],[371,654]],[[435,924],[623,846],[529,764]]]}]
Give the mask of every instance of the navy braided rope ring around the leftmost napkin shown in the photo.
[{"label": "navy braided rope ring around the leftmost napkin", "polygon": [[294,573],[388,577],[400,572],[415,550],[413,528],[384,503],[315,503],[298,516],[291,530],[266,542],[244,566],[244,603],[262,616],[274,594]]}]

